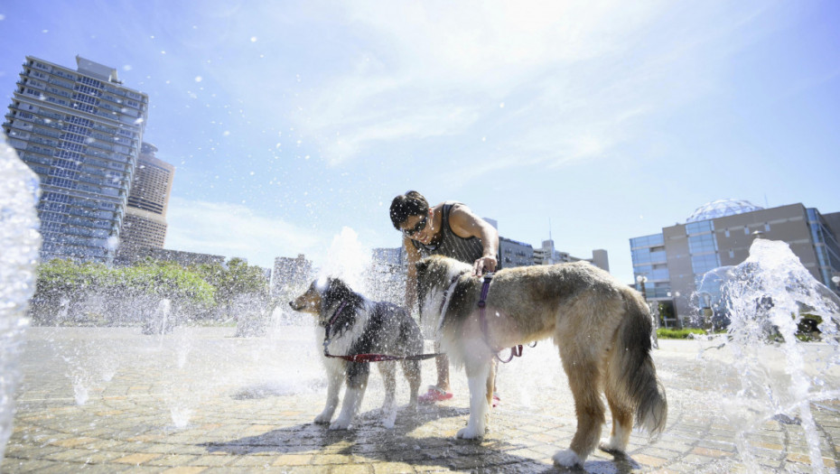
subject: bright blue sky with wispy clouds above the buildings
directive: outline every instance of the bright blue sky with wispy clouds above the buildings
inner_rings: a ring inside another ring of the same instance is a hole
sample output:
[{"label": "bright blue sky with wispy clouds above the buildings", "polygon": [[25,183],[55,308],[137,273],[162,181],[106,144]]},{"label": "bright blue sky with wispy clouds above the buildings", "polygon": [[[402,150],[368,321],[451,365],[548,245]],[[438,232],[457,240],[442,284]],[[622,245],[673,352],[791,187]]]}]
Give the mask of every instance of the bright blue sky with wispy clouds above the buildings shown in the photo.
[{"label": "bright blue sky with wispy clouds above the buildings", "polygon": [[38,4],[0,2],[0,95],[27,54],[149,94],[170,248],[398,246],[415,189],[630,283],[629,238],[705,202],[840,210],[838,2]]}]

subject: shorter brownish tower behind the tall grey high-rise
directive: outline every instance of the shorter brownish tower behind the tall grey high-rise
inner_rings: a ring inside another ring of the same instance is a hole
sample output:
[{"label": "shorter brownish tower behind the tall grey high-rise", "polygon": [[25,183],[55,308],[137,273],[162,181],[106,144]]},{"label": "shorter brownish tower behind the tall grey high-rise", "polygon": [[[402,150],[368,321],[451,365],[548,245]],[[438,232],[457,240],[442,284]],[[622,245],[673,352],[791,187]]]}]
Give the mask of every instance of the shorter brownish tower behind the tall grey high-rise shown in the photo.
[{"label": "shorter brownish tower behind the tall grey high-rise", "polygon": [[159,160],[154,144],[143,143],[128,194],[126,218],[120,230],[118,257],[140,247],[163,248],[166,208],[173,187],[175,167]]}]

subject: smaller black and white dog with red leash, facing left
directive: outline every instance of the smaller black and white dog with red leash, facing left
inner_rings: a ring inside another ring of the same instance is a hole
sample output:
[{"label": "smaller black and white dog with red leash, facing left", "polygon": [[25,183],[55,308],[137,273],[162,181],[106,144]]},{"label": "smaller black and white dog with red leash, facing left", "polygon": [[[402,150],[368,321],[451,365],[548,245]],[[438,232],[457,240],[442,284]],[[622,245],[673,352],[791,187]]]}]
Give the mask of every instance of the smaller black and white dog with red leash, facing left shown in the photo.
[{"label": "smaller black and white dog with red leash, facing left", "polygon": [[[317,318],[316,340],[322,352],[322,342],[328,341],[330,355],[353,356],[358,354],[387,354],[411,356],[423,350],[420,328],[408,312],[389,302],[372,302],[350,289],[338,278],[315,280],[305,293],[289,302],[294,311],[308,312]],[[322,330],[321,328],[324,328]],[[330,423],[339,403],[342,378],[347,382],[341,414],[330,424],[331,430],[350,427],[368,386],[370,363],[351,362],[322,355],[327,369],[327,404],[315,423]],[[395,392],[397,388],[397,361],[375,363],[385,382],[385,402],[382,404],[382,424],[393,428],[397,418]],[[417,404],[420,387],[420,362],[400,360],[403,374],[411,389],[409,407]]]}]

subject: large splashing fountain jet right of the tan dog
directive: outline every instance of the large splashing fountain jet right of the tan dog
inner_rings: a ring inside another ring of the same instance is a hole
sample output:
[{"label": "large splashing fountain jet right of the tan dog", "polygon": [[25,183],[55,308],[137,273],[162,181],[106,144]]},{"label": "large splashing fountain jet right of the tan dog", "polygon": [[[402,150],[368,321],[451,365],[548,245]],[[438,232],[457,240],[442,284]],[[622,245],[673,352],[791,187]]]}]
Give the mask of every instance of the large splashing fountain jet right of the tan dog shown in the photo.
[{"label": "large splashing fountain jet right of the tan dog", "polygon": [[[765,239],[755,240],[741,265],[715,269],[699,286],[710,280],[720,284],[718,309],[730,321],[720,348],[731,351],[737,376],[734,393],[724,397],[723,415],[742,427],[736,444],[743,460],[758,469],[748,433],[769,420],[788,420],[801,423],[811,467],[823,472],[810,404],[840,396],[825,384],[840,368],[840,299],[817,282],[787,244]],[[797,339],[804,314],[822,320],[818,329],[824,342]]]}]

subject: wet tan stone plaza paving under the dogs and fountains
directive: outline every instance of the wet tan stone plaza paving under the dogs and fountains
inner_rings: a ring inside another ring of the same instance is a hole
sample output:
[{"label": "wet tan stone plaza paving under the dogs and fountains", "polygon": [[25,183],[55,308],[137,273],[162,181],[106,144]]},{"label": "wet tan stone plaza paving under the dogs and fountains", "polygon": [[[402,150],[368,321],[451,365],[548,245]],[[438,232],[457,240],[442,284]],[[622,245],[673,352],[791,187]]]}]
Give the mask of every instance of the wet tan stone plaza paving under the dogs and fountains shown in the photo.
[{"label": "wet tan stone plaza paving under the dogs and fountains", "polygon": [[[575,429],[574,405],[556,349],[544,341],[499,370],[502,402],[482,441],[454,439],[466,423],[462,372],[453,399],[405,409],[398,376],[397,425],[378,422],[381,378],[371,374],[349,431],[313,424],[326,381],[314,328],[281,326],[260,338],[233,328],[140,330],[31,328],[20,360],[14,431],[0,470],[14,472],[812,472],[797,414],[752,421],[723,416],[733,382],[695,341],[660,340],[666,431],[634,432],[627,456],[596,451],[583,469],[551,456]],[[809,352],[826,344],[807,345]],[[714,350],[714,349],[709,349]],[[423,363],[424,384],[434,362]],[[840,376],[824,380],[836,389]],[[811,403],[825,472],[840,459],[840,400]],[[741,424],[739,424],[741,423]],[[604,426],[604,436],[609,423]]]}]

